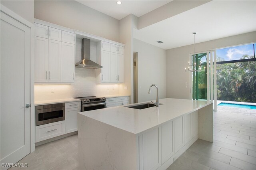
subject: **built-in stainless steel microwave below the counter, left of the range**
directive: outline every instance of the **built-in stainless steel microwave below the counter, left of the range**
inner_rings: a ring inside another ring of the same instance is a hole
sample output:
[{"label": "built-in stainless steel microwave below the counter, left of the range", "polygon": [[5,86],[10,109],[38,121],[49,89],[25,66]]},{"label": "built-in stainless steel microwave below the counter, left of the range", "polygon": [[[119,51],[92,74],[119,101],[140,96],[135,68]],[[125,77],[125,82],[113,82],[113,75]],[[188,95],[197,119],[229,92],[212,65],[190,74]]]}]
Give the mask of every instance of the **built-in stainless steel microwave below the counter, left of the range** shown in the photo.
[{"label": "built-in stainless steel microwave below the counter, left of the range", "polygon": [[36,106],[36,126],[65,120],[65,103]]}]

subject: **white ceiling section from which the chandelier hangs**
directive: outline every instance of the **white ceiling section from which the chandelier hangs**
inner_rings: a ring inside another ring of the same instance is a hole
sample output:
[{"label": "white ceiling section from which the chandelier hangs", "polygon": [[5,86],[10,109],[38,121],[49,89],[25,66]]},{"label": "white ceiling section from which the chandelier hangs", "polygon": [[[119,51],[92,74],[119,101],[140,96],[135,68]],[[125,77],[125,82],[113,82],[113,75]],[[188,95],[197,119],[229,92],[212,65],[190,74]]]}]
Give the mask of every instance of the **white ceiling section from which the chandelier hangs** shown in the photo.
[{"label": "white ceiling section from which the chandelier hangs", "polygon": [[[134,38],[171,49],[256,31],[256,1],[214,0],[148,26]],[[157,41],[164,43],[157,43]],[[256,38],[255,38],[256,41]]]}]

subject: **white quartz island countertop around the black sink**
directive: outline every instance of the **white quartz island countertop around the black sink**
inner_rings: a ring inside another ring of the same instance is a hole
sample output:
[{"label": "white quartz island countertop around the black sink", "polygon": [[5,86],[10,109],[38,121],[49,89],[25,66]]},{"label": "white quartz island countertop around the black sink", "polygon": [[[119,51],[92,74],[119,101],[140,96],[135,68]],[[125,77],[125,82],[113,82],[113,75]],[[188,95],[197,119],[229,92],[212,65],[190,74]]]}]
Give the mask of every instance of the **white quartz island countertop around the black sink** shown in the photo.
[{"label": "white quartz island countertop around the black sink", "polygon": [[[141,110],[119,106],[80,112],[79,114],[113,127],[138,134],[184,114],[192,113],[202,107],[210,105],[212,102],[166,98],[160,99],[159,103],[162,104],[160,107],[150,107]],[[139,103],[136,103],[136,105],[137,104]]]}]

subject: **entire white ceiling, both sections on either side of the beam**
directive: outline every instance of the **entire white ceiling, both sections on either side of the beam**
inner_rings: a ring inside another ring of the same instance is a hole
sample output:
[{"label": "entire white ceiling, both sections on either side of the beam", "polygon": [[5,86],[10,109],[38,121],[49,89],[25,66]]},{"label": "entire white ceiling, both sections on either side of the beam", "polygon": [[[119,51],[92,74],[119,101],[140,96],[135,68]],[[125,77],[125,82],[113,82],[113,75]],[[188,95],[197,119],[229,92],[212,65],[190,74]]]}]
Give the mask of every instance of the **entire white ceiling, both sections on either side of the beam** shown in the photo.
[{"label": "entire white ceiling, both sections on either side of the beam", "polygon": [[[122,0],[120,6],[116,0],[78,2],[120,20],[129,14],[140,17],[171,1]],[[200,43],[253,31],[256,31],[255,0],[213,0],[140,30],[134,29],[134,38],[171,49],[193,44],[193,32],[197,33],[195,42]]]}]

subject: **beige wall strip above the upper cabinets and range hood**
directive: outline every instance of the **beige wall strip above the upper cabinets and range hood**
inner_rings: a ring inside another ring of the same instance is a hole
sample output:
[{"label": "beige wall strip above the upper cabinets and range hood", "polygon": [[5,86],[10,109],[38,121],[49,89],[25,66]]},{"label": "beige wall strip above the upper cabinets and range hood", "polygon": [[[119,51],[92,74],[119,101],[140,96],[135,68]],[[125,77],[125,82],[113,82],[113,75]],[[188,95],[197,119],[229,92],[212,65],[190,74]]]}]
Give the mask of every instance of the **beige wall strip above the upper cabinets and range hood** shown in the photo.
[{"label": "beige wall strip above the upper cabinets and range hood", "polygon": [[119,41],[119,21],[74,0],[36,0],[34,16],[53,24]]}]

